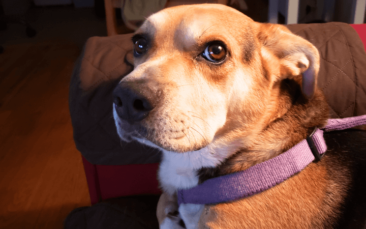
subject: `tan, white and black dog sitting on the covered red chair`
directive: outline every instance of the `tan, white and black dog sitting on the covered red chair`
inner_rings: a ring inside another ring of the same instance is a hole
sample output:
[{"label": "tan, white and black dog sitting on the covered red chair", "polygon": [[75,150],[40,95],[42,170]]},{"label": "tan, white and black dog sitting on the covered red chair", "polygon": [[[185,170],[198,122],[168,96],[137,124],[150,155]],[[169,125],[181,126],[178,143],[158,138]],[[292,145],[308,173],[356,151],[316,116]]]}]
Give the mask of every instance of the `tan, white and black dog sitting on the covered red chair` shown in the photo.
[{"label": "tan, white and black dog sitting on the covered red chair", "polygon": [[337,153],[247,198],[176,203],[178,189],[276,157],[326,125],[319,52],[310,42],[218,4],[164,9],[132,41],[134,70],[113,91],[113,117],[121,139],[162,151],[160,228],[346,224],[353,164]]}]

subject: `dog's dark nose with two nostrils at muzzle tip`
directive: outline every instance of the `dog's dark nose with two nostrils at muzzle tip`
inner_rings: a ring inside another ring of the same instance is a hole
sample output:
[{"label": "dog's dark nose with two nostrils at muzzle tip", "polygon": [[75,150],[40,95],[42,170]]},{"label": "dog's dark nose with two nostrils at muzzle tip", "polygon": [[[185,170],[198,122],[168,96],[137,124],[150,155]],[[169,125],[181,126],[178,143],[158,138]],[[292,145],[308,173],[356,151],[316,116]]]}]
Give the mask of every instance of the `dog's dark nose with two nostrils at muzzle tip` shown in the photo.
[{"label": "dog's dark nose with two nostrils at muzzle tip", "polygon": [[154,108],[145,96],[123,84],[113,90],[113,103],[119,118],[131,124],[146,118]]}]

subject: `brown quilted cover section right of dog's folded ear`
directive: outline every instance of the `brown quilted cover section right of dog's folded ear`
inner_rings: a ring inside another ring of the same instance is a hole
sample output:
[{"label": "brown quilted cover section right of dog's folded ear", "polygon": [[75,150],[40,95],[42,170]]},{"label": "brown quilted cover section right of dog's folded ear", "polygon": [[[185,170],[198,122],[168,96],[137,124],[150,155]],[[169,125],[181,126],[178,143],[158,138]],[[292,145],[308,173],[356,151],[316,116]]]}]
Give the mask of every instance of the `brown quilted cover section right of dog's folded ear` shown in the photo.
[{"label": "brown quilted cover section right of dog's folded ear", "polygon": [[340,22],[287,27],[320,52],[318,87],[326,96],[330,118],[366,114],[366,59],[357,32]]}]

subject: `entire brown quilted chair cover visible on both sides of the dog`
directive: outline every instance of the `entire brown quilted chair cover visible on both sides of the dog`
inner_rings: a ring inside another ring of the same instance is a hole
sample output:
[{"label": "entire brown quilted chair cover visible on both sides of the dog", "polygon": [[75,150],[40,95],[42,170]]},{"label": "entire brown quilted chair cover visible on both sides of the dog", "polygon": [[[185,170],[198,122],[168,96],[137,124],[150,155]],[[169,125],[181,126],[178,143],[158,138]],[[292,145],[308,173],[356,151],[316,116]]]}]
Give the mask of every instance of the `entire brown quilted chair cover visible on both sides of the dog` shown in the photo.
[{"label": "entire brown quilted chair cover visible on both sides of the dog", "polygon": [[[318,85],[329,118],[366,115],[366,54],[348,24],[287,25],[320,52]],[[133,70],[126,56],[132,34],[89,38],[71,76],[69,106],[76,148],[93,164],[157,163],[160,152],[138,142],[120,141],[112,115],[112,91]]]}]

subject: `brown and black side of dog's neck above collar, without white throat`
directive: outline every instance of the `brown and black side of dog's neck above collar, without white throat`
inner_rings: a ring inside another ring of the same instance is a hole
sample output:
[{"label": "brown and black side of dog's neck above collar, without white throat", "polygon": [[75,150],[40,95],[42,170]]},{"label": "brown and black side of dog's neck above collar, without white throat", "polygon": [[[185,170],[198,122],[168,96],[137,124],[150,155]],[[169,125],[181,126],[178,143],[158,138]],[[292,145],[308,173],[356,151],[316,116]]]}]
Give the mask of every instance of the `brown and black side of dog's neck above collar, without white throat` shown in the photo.
[{"label": "brown and black side of dog's neck above collar, without white throat", "polygon": [[[218,176],[245,170],[253,165],[269,160],[286,152],[305,139],[314,127],[322,127],[328,119],[327,104],[320,90],[308,101],[296,93],[296,83],[286,80],[282,89],[274,90],[275,112],[267,117],[268,124],[258,131],[245,147],[227,158],[216,167],[201,168],[199,183]],[[285,88],[285,89],[284,89]],[[320,108],[319,108],[320,107]]]}]

